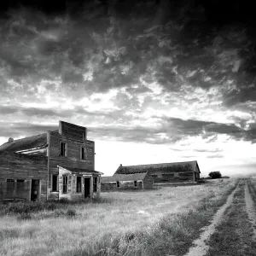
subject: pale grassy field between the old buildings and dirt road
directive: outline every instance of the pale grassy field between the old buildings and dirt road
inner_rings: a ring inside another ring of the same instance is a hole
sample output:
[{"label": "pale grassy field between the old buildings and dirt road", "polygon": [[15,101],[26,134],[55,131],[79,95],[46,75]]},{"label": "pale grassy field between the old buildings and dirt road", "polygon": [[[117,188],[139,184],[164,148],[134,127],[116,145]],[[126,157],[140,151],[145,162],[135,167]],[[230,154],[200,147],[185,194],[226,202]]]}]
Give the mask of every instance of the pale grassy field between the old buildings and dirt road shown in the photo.
[{"label": "pale grassy field between the old buildings and dirt road", "polygon": [[102,193],[95,203],[38,209],[3,205],[0,255],[183,255],[236,182]]}]

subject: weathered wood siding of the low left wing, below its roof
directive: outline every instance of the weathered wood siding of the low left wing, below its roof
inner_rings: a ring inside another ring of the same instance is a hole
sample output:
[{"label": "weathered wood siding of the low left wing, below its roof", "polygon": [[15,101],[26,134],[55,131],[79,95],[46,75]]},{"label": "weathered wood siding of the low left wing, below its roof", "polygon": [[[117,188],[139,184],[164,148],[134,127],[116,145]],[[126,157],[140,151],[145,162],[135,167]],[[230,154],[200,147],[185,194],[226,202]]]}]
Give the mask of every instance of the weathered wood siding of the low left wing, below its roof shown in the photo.
[{"label": "weathered wood siding of the low left wing, below its roof", "polygon": [[[12,187],[7,185],[7,179],[15,180]],[[0,154],[1,200],[19,198],[30,201],[32,179],[40,180],[39,199],[46,200],[47,157],[15,153]],[[24,183],[19,183],[17,180],[24,180]]]}]

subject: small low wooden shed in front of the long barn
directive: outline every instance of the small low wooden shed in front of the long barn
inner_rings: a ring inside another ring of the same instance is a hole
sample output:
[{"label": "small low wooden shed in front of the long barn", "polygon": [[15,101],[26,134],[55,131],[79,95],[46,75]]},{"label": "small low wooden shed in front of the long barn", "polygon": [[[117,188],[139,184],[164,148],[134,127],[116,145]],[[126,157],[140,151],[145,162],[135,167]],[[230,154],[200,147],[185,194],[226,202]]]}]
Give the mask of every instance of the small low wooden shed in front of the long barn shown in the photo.
[{"label": "small low wooden shed in front of the long barn", "polygon": [[102,177],[102,192],[121,189],[153,189],[153,178],[148,172],[114,174]]}]

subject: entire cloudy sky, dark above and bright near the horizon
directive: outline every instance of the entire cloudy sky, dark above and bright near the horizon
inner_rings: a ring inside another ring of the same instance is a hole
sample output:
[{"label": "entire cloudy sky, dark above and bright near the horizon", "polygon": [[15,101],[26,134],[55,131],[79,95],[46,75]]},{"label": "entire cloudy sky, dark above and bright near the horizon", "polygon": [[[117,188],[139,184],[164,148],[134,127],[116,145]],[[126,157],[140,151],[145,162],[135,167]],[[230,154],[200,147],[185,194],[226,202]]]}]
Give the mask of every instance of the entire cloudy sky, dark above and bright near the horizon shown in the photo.
[{"label": "entire cloudy sky, dark above and bright near the horizon", "polygon": [[0,144],[88,128],[96,171],[197,160],[256,172],[249,1],[34,1],[0,15]]}]

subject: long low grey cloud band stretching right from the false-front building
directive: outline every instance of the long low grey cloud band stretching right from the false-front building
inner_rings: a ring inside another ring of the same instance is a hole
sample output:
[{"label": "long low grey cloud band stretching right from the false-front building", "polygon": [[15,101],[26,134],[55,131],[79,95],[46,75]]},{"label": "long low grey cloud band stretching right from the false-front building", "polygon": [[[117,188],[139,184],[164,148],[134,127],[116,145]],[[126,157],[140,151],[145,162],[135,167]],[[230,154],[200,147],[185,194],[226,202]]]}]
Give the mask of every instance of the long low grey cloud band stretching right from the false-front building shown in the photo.
[{"label": "long low grey cloud band stretching right from the false-front building", "polygon": [[[115,138],[119,141],[139,142],[139,143],[153,143],[165,144],[176,143],[183,138],[202,136],[203,138],[213,137],[210,140],[217,140],[218,135],[226,134],[236,140],[246,140],[251,143],[256,142],[256,130],[252,125],[249,130],[244,130],[236,125],[225,125],[220,123],[197,121],[197,120],[183,120],[183,119],[162,119],[159,128],[149,128],[143,126],[136,127],[90,127],[90,134],[92,137],[108,137]],[[161,137],[165,135],[165,137]],[[209,141],[208,141],[209,143]],[[172,150],[181,150],[171,148]],[[196,149],[196,152],[220,153],[220,148],[213,149]],[[215,157],[218,154],[214,154]]]}]

